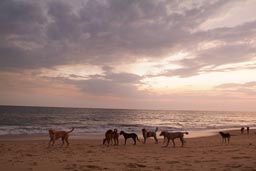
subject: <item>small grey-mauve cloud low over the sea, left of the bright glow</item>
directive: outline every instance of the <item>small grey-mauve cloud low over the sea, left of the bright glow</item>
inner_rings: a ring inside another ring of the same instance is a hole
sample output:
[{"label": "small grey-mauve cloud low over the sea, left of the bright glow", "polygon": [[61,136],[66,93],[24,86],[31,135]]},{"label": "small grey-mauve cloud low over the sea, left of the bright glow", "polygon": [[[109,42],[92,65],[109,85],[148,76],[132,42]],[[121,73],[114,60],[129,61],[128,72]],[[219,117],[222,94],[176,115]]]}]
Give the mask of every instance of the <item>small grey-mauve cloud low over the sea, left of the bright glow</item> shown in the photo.
[{"label": "small grey-mauve cloud low over the sea, left of the bright glow", "polygon": [[103,69],[103,75],[92,75],[87,80],[62,79],[61,81],[76,85],[80,91],[94,95],[132,97],[141,94],[137,87],[142,85],[140,81],[142,77],[131,73],[114,73],[108,66],[104,66]]}]

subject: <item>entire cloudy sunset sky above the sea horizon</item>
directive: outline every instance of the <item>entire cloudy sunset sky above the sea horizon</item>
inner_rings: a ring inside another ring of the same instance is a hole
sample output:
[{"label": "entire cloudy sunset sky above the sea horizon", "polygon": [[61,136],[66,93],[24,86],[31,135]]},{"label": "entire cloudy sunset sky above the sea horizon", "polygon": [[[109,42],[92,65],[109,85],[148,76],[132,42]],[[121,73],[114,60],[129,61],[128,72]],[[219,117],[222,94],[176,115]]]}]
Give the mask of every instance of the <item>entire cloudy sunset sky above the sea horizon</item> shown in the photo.
[{"label": "entire cloudy sunset sky above the sea horizon", "polygon": [[1,0],[0,104],[256,111],[255,0]]}]

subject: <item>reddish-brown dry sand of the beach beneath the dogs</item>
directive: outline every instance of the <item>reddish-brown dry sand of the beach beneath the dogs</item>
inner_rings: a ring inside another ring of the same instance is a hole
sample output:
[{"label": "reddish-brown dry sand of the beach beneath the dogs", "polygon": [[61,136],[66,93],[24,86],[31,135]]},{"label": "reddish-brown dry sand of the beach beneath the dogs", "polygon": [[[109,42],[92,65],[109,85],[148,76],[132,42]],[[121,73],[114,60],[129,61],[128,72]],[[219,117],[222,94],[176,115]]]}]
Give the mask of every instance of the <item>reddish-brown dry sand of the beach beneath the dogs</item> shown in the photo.
[{"label": "reddish-brown dry sand of the beach beneath the dogs", "polygon": [[[226,131],[231,132],[231,131]],[[251,131],[255,132],[255,131]],[[232,131],[229,144],[222,144],[219,135],[186,139],[184,148],[176,140],[176,148],[154,144],[132,145],[128,140],[119,146],[103,146],[99,139],[72,139],[70,146],[47,148],[48,140],[0,140],[1,171],[256,171],[256,135]]]}]

